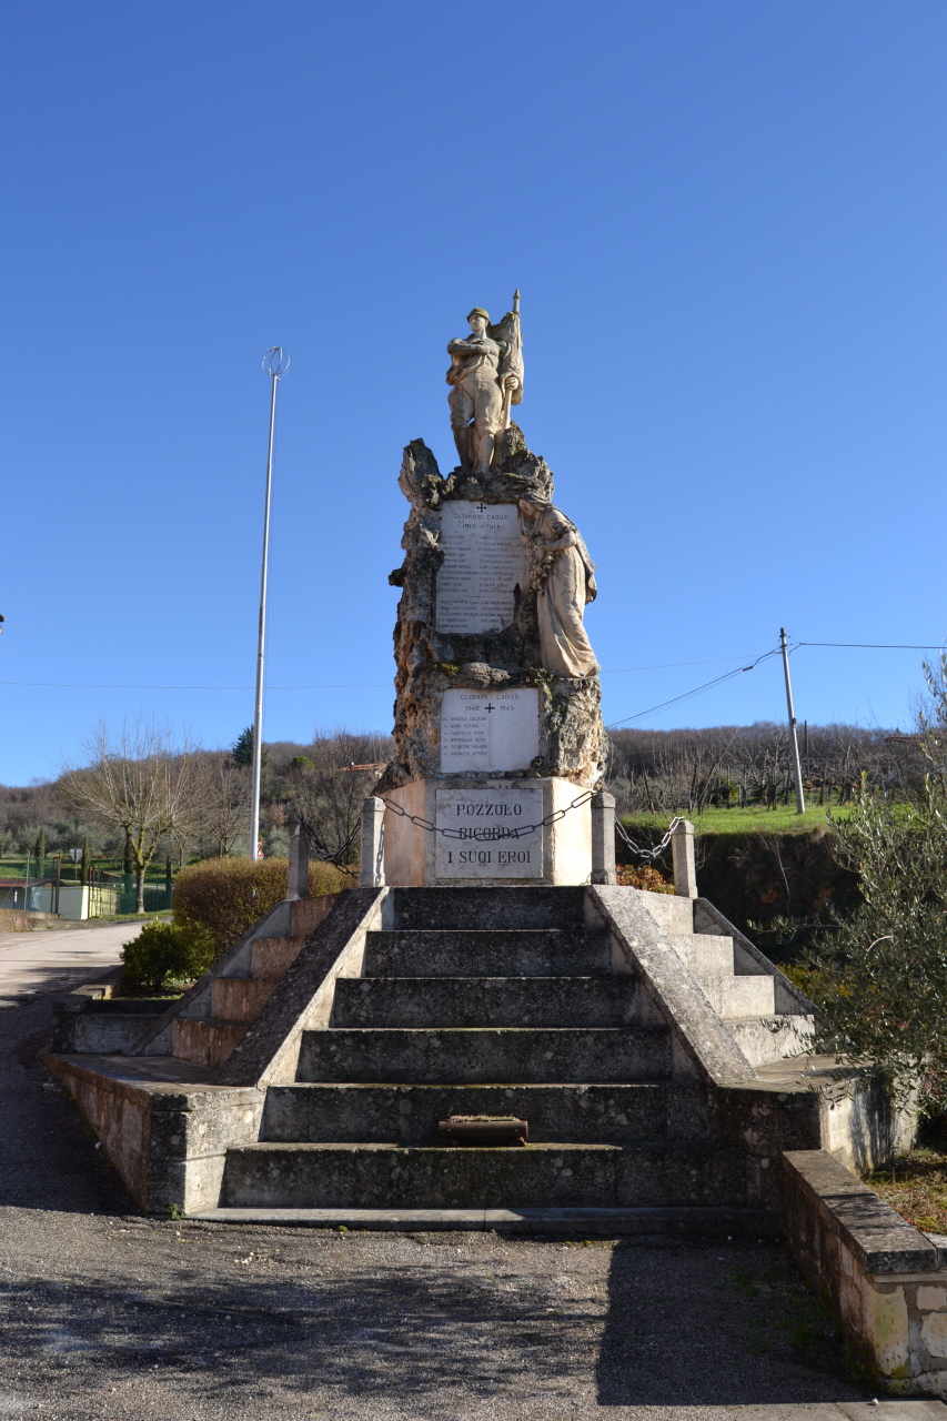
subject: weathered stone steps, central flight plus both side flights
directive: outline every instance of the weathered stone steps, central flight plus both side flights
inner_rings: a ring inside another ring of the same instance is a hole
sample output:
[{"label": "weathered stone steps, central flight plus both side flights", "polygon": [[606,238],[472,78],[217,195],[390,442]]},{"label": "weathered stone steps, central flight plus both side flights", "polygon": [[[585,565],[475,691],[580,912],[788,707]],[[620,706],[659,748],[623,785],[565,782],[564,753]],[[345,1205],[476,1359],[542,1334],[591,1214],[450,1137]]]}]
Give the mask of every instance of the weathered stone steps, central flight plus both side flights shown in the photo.
[{"label": "weathered stone steps, central flight plus both side flights", "polygon": [[[765,959],[714,922],[695,932],[688,898],[634,898],[754,1064],[798,1050],[808,1022],[776,1013]],[[587,917],[583,888],[390,890],[363,975],[336,979],[328,1025],[301,1033],[296,1080],[267,1087],[259,1140],[228,1150],[202,1216],[745,1209],[745,1152],[707,1080]],[[175,1054],[236,1044],[300,936],[257,939],[249,976],[215,980],[212,1017],[178,1023]],[[519,1115],[529,1144],[439,1145],[451,1114]]]}]

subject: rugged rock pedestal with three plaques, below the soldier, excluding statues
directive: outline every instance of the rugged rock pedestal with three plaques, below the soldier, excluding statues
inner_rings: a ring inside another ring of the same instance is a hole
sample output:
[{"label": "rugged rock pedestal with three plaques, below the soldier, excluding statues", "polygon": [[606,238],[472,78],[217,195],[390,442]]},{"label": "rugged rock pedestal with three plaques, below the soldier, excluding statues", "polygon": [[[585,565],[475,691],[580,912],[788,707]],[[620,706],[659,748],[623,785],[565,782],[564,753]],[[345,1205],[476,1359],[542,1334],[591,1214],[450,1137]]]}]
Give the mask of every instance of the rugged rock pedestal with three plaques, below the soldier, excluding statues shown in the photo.
[{"label": "rugged rock pedestal with three plaques, below the soldier, excluding statues", "polygon": [[[478,476],[461,468],[442,477],[421,441],[405,449],[398,485],[411,514],[404,564],[390,577],[401,588],[395,753],[375,786],[387,803],[384,875],[373,858],[370,868],[363,864],[373,875],[363,882],[592,882],[586,796],[599,787],[606,762],[599,676],[562,675],[543,664],[537,598],[546,584],[526,556],[520,509],[529,499],[552,509],[552,482],[515,425],[502,435],[492,469]],[[566,524],[577,547],[580,534]],[[589,591],[590,563],[583,561],[583,576]],[[569,809],[583,797],[582,807]],[[412,824],[391,806],[451,834]],[[542,824],[559,810],[567,813]],[[377,843],[374,820],[363,838]],[[604,848],[599,858],[607,882]]]}]

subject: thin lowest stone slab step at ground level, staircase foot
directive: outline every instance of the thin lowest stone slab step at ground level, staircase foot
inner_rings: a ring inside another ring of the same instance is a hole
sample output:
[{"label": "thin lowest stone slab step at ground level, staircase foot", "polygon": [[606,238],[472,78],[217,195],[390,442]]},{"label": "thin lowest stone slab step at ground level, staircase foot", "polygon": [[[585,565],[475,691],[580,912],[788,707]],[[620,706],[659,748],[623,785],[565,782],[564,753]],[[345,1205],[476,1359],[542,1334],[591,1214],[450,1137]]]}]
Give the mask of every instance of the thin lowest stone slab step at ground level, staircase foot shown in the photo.
[{"label": "thin lowest stone slab step at ground level, staircase foot", "polygon": [[[189,1219],[208,1223],[283,1225],[289,1228],[358,1229],[387,1233],[491,1232],[560,1233],[565,1238],[614,1238],[664,1233],[673,1238],[778,1239],[782,1219],[769,1209],[704,1208],[664,1209],[200,1209]],[[884,1421],[884,1403],[877,1412]],[[899,1405],[903,1405],[899,1403]],[[754,1408],[758,1411],[758,1408]],[[810,1408],[812,1410],[812,1408]],[[806,1411],[809,1415],[809,1411]],[[904,1412],[889,1421],[904,1421]],[[774,1415],[772,1421],[776,1421]],[[785,1410],[782,1421],[786,1421]],[[815,1417],[810,1421],[816,1421]],[[839,1421],[842,1421],[839,1415]],[[917,1421],[926,1421],[917,1417]]]}]

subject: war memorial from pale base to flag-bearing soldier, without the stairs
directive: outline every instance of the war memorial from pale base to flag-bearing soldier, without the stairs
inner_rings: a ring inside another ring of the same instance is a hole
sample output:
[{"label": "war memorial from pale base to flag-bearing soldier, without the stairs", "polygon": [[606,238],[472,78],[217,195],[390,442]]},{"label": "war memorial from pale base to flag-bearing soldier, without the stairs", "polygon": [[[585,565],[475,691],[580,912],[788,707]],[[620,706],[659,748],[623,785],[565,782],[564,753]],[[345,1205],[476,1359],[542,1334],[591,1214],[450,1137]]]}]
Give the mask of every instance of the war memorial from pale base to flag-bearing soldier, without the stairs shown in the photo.
[{"label": "war memorial from pale base to flag-bearing soldier, without the stairs", "polygon": [[[519,293],[448,345],[458,466],[422,441],[398,485],[411,504],[395,627],[395,755],[384,881],[582,884],[604,769],[599,665],[583,624],[594,564],[553,503],[553,476],[510,419],[523,395]],[[427,827],[425,827],[427,826]]]}]

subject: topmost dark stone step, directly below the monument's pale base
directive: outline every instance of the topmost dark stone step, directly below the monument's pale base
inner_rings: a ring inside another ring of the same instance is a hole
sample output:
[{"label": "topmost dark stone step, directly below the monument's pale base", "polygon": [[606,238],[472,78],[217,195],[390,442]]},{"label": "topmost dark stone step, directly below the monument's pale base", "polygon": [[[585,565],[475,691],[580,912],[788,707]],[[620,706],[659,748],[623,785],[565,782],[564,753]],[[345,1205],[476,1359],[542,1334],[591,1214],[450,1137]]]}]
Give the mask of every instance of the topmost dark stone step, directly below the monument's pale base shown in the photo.
[{"label": "topmost dark stone step, directly below the monument's pale base", "polygon": [[[395,888],[394,928],[565,928],[584,922],[583,888]],[[691,924],[692,925],[692,924]]]}]

